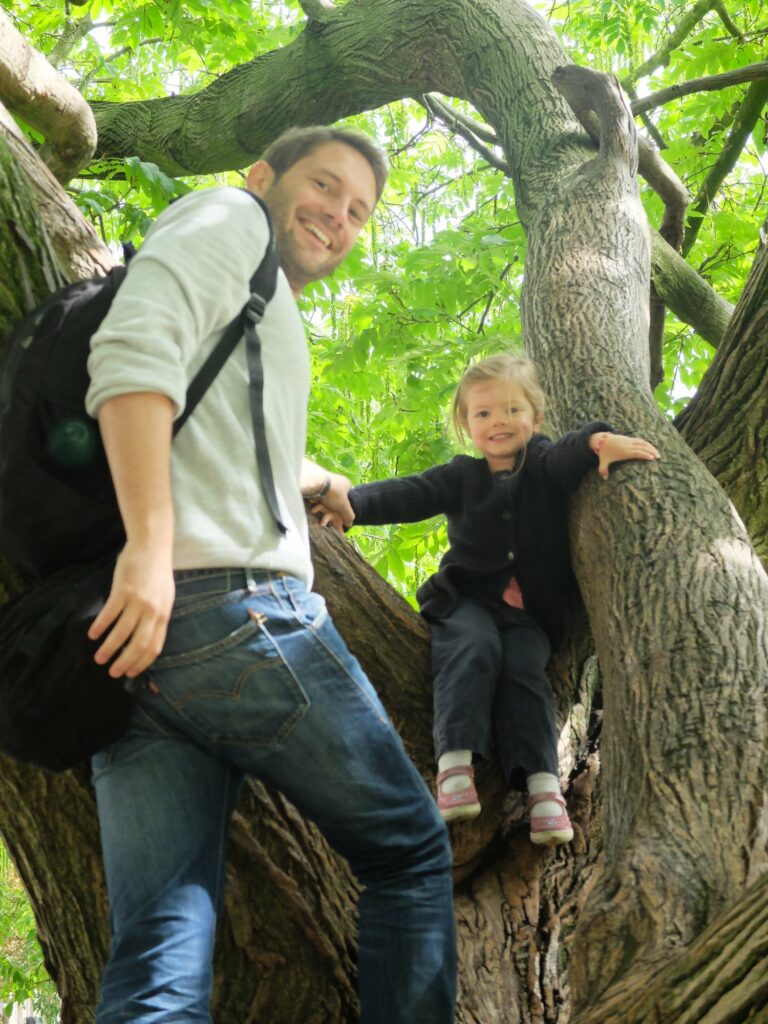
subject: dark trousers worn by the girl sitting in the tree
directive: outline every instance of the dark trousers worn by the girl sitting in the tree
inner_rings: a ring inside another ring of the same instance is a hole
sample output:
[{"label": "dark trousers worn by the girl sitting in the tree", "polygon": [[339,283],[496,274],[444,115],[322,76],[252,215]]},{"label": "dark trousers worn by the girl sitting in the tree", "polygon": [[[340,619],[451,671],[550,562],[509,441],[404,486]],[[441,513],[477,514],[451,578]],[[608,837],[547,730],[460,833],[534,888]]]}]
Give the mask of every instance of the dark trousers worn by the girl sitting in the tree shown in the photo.
[{"label": "dark trousers worn by the girl sitting in the tree", "polygon": [[461,596],[445,618],[429,618],[436,757],[490,755],[492,729],[507,781],[557,775],[557,728],[545,674],[547,634],[525,611],[498,599]]}]

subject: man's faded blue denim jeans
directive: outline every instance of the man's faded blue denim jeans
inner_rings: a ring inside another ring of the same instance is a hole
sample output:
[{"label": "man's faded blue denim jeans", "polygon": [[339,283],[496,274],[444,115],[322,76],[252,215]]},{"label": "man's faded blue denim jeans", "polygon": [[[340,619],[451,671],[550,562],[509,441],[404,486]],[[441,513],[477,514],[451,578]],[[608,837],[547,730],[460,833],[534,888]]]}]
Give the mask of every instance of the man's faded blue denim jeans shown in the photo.
[{"label": "man's faded blue denim jeans", "polygon": [[347,858],[362,1024],[452,1024],[451,849],[434,801],[317,594],[178,572],[126,736],[93,758],[113,942],[97,1024],[210,1022],[229,817],[245,775]]}]

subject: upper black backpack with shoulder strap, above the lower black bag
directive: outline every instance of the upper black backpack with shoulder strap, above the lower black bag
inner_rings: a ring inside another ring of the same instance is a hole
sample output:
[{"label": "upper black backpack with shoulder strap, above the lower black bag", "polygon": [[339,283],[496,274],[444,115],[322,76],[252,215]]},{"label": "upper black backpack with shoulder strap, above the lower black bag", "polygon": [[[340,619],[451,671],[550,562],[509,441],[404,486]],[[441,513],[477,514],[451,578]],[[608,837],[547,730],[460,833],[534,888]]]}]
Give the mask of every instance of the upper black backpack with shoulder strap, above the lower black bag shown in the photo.
[{"label": "upper black backpack with shoulder strap, above the lower black bag", "polygon": [[[251,301],[190,383],[178,433],[250,322],[274,294],[270,242],[251,279]],[[116,552],[124,541],[98,424],[85,411],[90,339],[125,267],[51,295],[10,332],[0,361],[0,551],[37,578]],[[255,310],[255,312],[254,312]]]}]

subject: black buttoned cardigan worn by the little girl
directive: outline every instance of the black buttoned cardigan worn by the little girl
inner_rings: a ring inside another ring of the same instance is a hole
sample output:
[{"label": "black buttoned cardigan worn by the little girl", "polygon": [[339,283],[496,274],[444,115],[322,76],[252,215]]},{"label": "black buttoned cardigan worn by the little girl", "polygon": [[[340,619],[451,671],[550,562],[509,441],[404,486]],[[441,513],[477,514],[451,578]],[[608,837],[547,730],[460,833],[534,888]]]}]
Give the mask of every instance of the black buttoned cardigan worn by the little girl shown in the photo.
[{"label": "black buttoned cardigan worn by the little girl", "polygon": [[525,609],[556,639],[561,597],[575,589],[568,550],[568,492],[598,458],[593,422],[552,442],[535,434],[522,466],[490,471],[485,459],[459,455],[424,473],[352,487],[355,525],[418,522],[443,513],[450,547],[417,600],[429,618],[444,618],[461,593],[501,597],[515,575]]}]

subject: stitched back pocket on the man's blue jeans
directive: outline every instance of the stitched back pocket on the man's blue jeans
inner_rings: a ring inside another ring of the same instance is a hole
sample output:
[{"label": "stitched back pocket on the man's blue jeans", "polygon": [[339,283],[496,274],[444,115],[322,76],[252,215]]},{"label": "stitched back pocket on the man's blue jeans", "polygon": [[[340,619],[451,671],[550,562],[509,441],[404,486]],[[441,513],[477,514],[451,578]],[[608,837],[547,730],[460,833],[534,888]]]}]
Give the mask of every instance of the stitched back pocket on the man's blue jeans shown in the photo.
[{"label": "stitched back pocket on the man's blue jeans", "polygon": [[[225,745],[270,750],[285,741],[309,698],[280,647],[253,612],[226,636],[161,656],[152,688],[176,724]],[[200,639],[200,638],[199,638]]]}]

